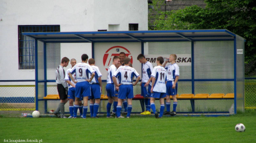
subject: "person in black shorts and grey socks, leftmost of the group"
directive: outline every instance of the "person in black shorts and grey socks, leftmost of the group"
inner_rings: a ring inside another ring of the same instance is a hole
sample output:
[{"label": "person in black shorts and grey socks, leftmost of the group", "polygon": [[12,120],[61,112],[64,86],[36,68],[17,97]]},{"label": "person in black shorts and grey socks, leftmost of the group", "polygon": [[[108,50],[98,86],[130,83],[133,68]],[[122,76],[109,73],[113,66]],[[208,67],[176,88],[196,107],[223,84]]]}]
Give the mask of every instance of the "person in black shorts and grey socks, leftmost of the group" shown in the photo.
[{"label": "person in black shorts and grey socks, leftmost of the group", "polygon": [[[59,99],[60,103],[57,109],[54,111],[54,114],[57,117],[61,118],[67,118],[65,116],[65,104],[68,102],[68,84],[65,81],[65,70],[63,67],[67,67],[69,65],[69,58],[64,57],[61,59],[61,63],[58,66],[58,68],[55,70],[55,75],[56,75],[56,83],[57,83],[57,90],[59,93]],[[60,111],[60,114],[59,114]]]}]

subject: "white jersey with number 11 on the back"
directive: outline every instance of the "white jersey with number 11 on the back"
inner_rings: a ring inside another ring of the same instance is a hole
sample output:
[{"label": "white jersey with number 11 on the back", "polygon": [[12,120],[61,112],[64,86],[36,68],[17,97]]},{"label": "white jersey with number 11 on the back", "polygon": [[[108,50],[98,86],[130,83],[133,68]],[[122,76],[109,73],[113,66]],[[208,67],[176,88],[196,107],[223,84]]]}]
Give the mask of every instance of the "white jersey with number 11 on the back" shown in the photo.
[{"label": "white jersey with number 11 on the back", "polygon": [[160,65],[155,66],[152,71],[151,77],[156,78],[153,91],[166,93],[166,69]]}]

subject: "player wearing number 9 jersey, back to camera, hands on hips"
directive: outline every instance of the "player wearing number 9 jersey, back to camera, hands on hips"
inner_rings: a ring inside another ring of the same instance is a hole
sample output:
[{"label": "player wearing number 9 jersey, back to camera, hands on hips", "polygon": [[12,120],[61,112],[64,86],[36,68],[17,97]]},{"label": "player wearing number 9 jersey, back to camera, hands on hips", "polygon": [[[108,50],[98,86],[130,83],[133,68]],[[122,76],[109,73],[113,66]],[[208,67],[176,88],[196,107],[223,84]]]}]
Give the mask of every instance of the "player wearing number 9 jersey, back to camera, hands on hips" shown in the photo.
[{"label": "player wearing number 9 jersey, back to camera, hands on hips", "polygon": [[[87,64],[88,55],[82,54],[81,56],[82,62],[73,66],[70,69],[69,77],[71,80],[76,83],[75,89],[75,105],[74,105],[74,117],[77,117],[77,110],[79,107],[79,100],[83,98],[83,118],[86,118],[87,110],[88,110],[88,97],[91,96],[91,88],[90,82],[94,78],[94,70],[93,68]],[[72,74],[76,73],[76,81],[73,79]],[[91,74],[91,78],[89,79],[89,74]]]}]

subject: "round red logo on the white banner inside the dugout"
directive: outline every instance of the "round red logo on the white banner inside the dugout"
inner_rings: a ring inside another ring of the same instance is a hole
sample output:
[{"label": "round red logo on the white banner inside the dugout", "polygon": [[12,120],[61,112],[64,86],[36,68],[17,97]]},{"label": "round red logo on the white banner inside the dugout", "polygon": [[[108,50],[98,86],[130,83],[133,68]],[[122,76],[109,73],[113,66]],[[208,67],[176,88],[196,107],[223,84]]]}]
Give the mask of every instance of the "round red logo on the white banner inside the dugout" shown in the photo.
[{"label": "round red logo on the white banner inside the dugout", "polygon": [[133,63],[133,56],[131,55],[131,52],[127,50],[123,46],[112,46],[110,49],[106,50],[104,56],[103,56],[103,66],[106,70],[108,70],[109,66],[113,63],[114,56],[119,56],[121,52],[125,53],[125,56],[131,59],[131,63]]}]

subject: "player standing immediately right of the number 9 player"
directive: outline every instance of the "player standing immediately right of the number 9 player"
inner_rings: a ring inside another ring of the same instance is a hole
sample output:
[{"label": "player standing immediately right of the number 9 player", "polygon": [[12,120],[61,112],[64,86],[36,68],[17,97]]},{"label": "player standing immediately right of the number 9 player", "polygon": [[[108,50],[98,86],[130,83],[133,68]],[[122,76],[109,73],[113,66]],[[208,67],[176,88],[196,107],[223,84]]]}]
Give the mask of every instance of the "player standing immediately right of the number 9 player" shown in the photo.
[{"label": "player standing immediately right of the number 9 player", "polygon": [[98,118],[97,113],[100,104],[100,95],[102,91],[102,82],[101,82],[101,73],[99,71],[98,66],[95,66],[95,60],[93,58],[88,60],[89,65],[95,71],[95,76],[93,80],[90,82],[91,84],[91,97],[90,97],[90,112],[91,117]]}]

